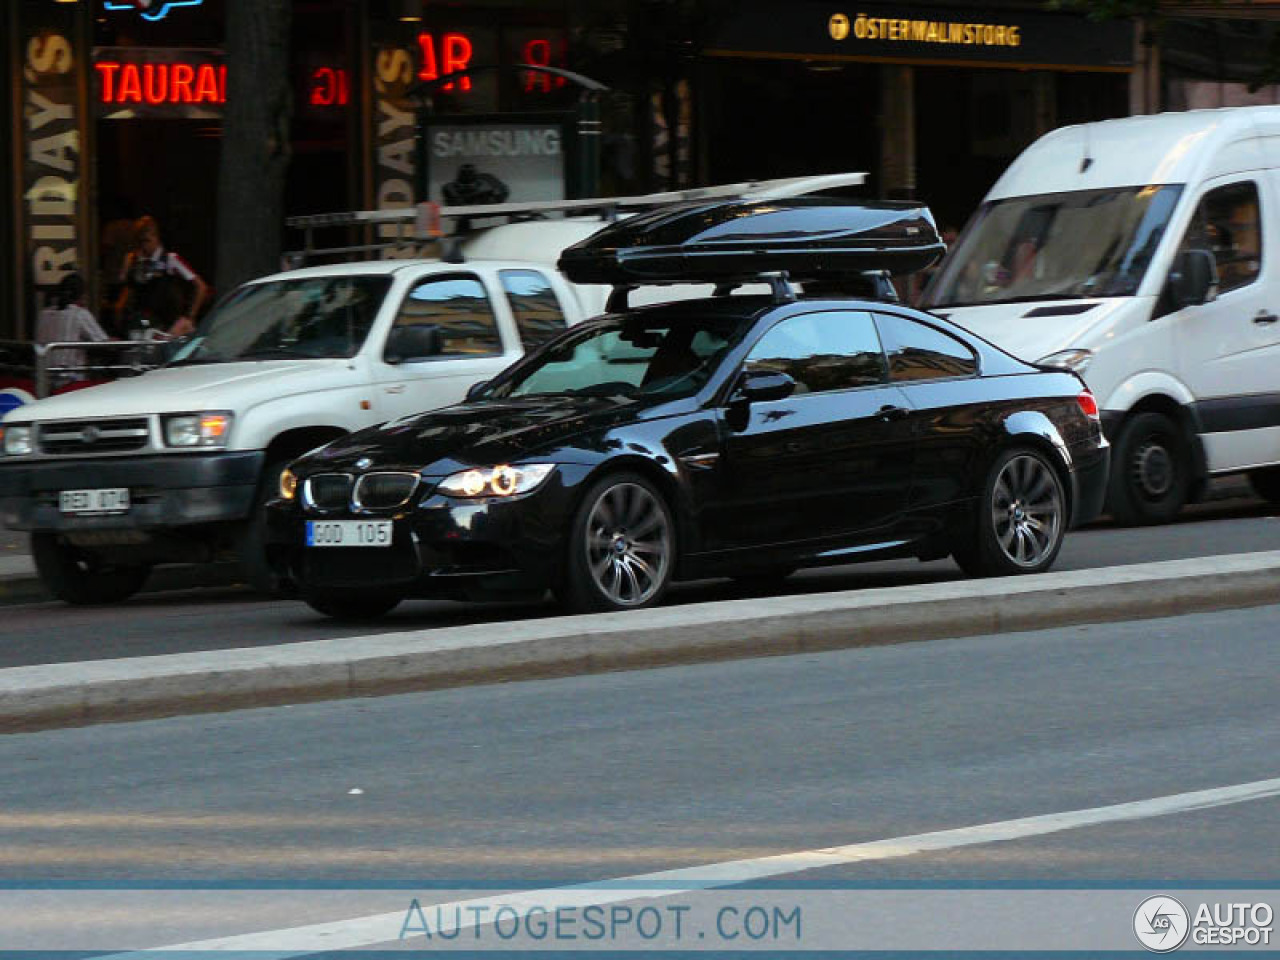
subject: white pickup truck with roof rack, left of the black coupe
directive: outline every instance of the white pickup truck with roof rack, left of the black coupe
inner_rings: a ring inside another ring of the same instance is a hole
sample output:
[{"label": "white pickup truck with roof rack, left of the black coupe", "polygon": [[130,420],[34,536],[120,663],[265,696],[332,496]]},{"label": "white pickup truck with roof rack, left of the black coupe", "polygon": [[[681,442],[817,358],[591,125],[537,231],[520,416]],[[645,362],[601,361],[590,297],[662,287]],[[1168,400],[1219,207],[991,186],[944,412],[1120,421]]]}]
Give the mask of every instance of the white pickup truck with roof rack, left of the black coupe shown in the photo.
[{"label": "white pickup truck with roof rack, left of the black coupe", "polygon": [[[735,184],[608,206],[795,196],[861,179]],[[540,206],[575,214],[590,204]],[[456,403],[600,312],[607,288],[570,284],[553,266],[600,225],[577,216],[509,223],[471,234],[447,260],[311,266],[244,284],[168,365],[8,413],[0,518],[31,531],[41,580],[69,603],[123,600],[159,563],[239,559],[250,582],[269,590],[259,506],[284,466],[351,431]],[[657,298],[707,293],[666,289]]]}]

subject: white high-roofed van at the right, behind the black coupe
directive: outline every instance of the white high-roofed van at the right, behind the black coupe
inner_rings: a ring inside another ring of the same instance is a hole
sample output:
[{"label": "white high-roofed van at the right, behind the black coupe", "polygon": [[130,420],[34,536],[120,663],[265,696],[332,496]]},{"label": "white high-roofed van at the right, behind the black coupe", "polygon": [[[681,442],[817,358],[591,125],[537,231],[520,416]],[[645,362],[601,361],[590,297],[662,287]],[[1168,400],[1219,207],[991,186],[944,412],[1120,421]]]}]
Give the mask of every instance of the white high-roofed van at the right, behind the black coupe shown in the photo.
[{"label": "white high-roofed van at the right, behind the black coupe", "polygon": [[1046,134],[924,306],[1084,376],[1119,521],[1170,520],[1228,474],[1280,502],[1280,106]]}]

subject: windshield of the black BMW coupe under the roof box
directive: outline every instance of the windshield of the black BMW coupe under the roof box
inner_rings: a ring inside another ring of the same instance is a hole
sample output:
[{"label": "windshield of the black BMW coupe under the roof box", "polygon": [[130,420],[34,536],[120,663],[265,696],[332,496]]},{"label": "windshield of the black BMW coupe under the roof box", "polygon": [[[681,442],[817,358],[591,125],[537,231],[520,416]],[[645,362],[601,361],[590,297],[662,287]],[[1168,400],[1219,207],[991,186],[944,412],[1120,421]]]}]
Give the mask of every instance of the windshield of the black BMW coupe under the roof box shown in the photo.
[{"label": "windshield of the black BMW coupe under the roof box", "polygon": [[614,317],[564,334],[486,396],[690,397],[750,325],[745,317]]}]

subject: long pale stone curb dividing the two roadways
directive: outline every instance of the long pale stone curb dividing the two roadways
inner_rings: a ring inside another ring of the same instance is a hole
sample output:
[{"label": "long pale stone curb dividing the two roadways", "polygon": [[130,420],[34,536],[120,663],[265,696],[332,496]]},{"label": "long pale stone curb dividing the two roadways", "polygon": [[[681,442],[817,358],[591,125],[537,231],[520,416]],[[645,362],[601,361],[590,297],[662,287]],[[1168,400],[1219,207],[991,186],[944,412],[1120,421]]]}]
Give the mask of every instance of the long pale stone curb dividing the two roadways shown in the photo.
[{"label": "long pale stone curb dividing the two roadways", "polygon": [[1280,552],[0,671],[0,732],[1280,603]]}]

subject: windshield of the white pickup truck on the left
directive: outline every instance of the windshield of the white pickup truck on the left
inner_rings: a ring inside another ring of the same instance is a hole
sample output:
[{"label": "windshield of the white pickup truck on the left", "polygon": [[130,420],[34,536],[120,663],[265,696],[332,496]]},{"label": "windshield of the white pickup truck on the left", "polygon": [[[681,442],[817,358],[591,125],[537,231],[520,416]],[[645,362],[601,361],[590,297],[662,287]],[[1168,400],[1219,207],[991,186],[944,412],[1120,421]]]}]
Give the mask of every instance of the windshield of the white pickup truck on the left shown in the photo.
[{"label": "windshield of the white pickup truck on the left", "polygon": [[205,317],[170,365],[355,356],[388,287],[388,276],[308,276],[241,287]]}]

